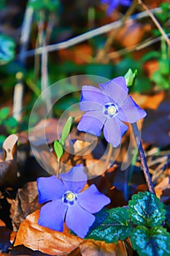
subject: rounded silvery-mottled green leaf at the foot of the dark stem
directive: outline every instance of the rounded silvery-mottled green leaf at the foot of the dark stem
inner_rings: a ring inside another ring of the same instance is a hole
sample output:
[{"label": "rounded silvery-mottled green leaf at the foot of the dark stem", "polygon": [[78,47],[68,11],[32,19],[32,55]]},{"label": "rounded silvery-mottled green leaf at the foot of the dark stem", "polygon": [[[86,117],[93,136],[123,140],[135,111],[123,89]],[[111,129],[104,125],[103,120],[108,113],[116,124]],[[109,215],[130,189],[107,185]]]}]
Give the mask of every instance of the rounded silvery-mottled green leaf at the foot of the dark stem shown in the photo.
[{"label": "rounded silvery-mottled green leaf at the foot of the dark stem", "polygon": [[166,211],[163,209],[163,203],[150,192],[133,195],[128,206],[131,221],[136,225],[153,227],[161,225],[165,219]]}]

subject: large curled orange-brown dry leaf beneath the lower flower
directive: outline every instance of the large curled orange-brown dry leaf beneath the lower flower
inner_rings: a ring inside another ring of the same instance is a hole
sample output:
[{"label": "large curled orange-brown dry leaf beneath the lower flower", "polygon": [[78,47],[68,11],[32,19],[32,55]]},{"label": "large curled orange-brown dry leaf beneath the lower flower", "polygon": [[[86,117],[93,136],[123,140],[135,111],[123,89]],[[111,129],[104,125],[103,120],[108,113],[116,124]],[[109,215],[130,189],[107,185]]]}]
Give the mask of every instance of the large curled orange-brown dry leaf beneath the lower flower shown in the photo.
[{"label": "large curled orange-brown dry leaf beneath the lower flower", "polygon": [[24,246],[50,255],[65,255],[72,252],[82,242],[82,238],[73,236],[67,230],[63,233],[38,225],[39,210],[28,215],[20,224],[15,246]]}]

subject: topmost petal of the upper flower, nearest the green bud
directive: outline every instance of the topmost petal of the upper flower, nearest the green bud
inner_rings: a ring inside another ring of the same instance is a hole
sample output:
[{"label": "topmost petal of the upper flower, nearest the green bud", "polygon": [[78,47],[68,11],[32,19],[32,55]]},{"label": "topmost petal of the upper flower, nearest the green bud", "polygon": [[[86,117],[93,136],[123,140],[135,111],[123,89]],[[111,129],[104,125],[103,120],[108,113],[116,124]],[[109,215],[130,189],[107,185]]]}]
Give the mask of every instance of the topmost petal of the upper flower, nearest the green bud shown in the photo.
[{"label": "topmost petal of the upper flower, nearest the green bud", "polygon": [[104,92],[106,97],[111,98],[119,106],[128,97],[128,88],[125,83],[125,78],[118,77],[99,84],[99,87]]}]

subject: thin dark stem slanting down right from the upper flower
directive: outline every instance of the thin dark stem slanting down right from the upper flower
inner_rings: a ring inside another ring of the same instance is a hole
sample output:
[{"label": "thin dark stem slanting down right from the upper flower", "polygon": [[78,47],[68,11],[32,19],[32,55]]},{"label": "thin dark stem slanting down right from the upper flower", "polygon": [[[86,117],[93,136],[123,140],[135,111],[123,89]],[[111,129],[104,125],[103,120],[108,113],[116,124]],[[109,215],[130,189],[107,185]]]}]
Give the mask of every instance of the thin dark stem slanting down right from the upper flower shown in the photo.
[{"label": "thin dark stem slanting down right from the upper flower", "polygon": [[143,172],[144,172],[144,177],[146,178],[146,181],[147,181],[147,187],[148,187],[148,189],[151,193],[155,194],[155,189],[154,189],[154,186],[152,184],[152,179],[151,179],[151,176],[150,176],[150,172],[149,172],[149,169],[147,167],[147,161],[146,161],[146,158],[144,156],[144,149],[142,147],[142,141],[140,139],[139,129],[138,129],[136,123],[131,124],[131,126],[132,126],[132,129],[133,129],[134,137],[135,137],[136,144],[137,144],[137,147],[138,147],[139,157],[141,159],[141,165],[142,165],[142,169],[143,169]]}]

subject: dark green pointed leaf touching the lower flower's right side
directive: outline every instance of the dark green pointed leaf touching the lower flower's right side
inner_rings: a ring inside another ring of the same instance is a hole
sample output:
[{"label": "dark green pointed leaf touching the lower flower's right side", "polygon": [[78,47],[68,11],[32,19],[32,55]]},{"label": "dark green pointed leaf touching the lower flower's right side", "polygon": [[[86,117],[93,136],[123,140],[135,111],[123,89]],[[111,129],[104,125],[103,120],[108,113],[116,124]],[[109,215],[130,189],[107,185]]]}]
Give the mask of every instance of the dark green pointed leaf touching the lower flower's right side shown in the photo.
[{"label": "dark green pointed leaf touching the lower flower's right side", "polygon": [[132,225],[129,222],[127,208],[112,208],[108,211],[109,217],[96,227],[87,238],[105,241],[106,243],[117,243],[131,234]]}]

